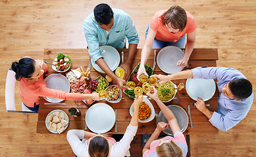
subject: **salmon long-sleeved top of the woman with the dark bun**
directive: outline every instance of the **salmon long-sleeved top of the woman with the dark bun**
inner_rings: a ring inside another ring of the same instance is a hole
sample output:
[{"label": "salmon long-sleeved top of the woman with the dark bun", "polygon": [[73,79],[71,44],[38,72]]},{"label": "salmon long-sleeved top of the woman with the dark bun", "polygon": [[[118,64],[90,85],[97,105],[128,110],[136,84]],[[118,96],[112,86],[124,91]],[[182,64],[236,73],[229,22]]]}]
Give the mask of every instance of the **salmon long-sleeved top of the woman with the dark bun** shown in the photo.
[{"label": "salmon long-sleeved top of the woman with the dark bun", "polygon": [[[45,64],[45,63],[44,63]],[[47,71],[47,66],[43,71]],[[20,84],[20,96],[22,102],[28,107],[34,107],[34,103],[39,104],[39,97],[52,97],[57,99],[84,99],[83,94],[74,94],[63,92],[61,90],[53,90],[47,88],[43,75],[35,82],[30,82],[22,77],[19,81]]]}]

